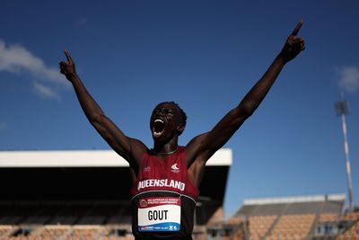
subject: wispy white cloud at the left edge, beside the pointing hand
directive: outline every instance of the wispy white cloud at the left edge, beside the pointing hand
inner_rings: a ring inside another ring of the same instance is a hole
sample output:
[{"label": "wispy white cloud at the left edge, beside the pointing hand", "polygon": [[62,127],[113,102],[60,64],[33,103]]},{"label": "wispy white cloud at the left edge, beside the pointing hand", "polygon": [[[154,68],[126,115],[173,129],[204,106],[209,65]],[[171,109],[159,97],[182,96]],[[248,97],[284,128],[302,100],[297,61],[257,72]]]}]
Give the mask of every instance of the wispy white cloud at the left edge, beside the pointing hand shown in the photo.
[{"label": "wispy white cloud at the left edge, beside the pointing hand", "polygon": [[[47,67],[44,61],[34,56],[31,51],[19,44],[11,44],[6,46],[4,40],[0,39],[0,71],[7,71],[14,74],[30,74],[37,80],[50,84],[48,90],[57,94],[54,85],[68,87],[69,83],[65,77],[59,73],[57,67]],[[35,84],[38,93],[43,93],[45,97],[51,97],[48,91],[40,91],[39,83]],[[58,95],[58,94],[57,94]]]}]

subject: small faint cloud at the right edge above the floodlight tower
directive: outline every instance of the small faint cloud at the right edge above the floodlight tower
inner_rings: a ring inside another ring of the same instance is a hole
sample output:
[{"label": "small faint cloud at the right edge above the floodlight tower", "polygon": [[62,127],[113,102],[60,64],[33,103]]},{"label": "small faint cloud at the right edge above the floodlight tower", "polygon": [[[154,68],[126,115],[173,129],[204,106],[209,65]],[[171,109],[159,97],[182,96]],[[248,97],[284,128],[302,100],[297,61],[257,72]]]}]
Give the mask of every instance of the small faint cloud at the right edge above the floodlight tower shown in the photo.
[{"label": "small faint cloud at the right edge above the floodlight tower", "polygon": [[355,93],[359,90],[359,67],[340,67],[339,85],[348,93]]}]

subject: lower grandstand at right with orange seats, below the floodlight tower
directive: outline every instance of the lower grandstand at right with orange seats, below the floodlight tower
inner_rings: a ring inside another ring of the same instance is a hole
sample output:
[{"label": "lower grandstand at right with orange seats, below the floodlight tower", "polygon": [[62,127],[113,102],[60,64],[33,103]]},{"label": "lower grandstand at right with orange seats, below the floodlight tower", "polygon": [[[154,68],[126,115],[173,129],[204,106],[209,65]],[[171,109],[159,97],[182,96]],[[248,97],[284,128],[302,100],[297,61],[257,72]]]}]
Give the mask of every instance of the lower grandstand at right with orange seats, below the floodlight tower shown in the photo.
[{"label": "lower grandstand at right with orange seats, below the floodlight tower", "polygon": [[208,239],[359,239],[359,211],[345,212],[345,194],[244,200]]}]

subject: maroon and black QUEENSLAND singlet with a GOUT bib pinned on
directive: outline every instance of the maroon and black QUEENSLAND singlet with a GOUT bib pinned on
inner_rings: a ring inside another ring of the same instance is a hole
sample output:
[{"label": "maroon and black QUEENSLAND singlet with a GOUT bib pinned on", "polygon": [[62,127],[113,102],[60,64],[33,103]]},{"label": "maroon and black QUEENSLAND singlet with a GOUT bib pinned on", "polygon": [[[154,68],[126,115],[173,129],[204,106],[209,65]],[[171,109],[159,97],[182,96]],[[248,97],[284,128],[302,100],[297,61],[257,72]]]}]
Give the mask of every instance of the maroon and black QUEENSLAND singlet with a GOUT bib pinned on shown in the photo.
[{"label": "maroon and black QUEENSLAND singlet with a GOUT bib pinned on", "polygon": [[164,159],[144,154],[131,189],[136,239],[191,239],[198,193],[188,178],[184,147]]}]

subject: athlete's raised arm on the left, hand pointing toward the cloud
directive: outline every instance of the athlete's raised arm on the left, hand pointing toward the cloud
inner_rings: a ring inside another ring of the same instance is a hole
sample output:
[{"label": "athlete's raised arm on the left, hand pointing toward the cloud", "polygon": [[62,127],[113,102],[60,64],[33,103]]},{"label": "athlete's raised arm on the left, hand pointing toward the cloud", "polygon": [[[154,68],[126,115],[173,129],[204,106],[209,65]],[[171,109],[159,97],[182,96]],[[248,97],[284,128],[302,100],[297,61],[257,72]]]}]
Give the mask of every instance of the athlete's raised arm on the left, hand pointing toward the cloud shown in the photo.
[{"label": "athlete's raised arm on the left, hand pointing toward the cloud", "polygon": [[77,99],[83,108],[83,112],[92,126],[100,133],[110,147],[119,156],[124,157],[135,170],[137,169],[138,159],[142,157],[146,147],[142,142],[134,138],[128,138],[118,127],[106,117],[101,107],[95,102],[90,93],[87,92],[80,77],[76,74],[74,61],[70,54],[64,50],[67,61],[59,63],[61,73],[66,76],[74,86]]}]

